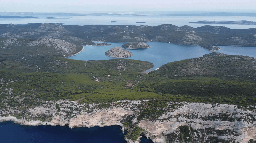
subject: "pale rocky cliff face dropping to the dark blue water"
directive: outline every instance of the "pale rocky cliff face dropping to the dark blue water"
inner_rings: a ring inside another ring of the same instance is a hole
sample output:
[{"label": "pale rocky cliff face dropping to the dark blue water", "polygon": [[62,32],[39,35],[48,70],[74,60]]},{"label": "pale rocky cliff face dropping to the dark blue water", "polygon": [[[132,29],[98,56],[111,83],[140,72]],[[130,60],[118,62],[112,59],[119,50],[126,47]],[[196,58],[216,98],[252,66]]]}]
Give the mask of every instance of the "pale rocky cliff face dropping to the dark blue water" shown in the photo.
[{"label": "pale rocky cliff face dropping to the dark blue water", "polygon": [[[57,111],[55,108],[56,104],[60,104],[60,111]],[[253,118],[256,118],[255,109],[251,111],[245,108],[238,109],[237,106],[228,104],[183,103],[181,106],[175,107],[175,109],[166,108],[167,112],[156,120],[138,120],[136,118],[140,115],[138,105],[144,104],[144,102],[118,101],[115,104],[119,106],[98,109],[96,107],[98,104],[95,103],[84,105],[75,101],[58,101],[57,103],[45,101],[42,106],[29,109],[29,112],[38,118],[51,116],[51,120],[42,121],[42,119],[33,119],[32,117],[17,119],[12,116],[0,116],[0,121],[14,121],[22,125],[69,125],[70,128],[120,125],[123,127],[122,131],[124,131],[127,128],[122,124],[123,119],[130,115],[133,117],[131,123],[145,129],[142,132],[152,139],[153,142],[157,143],[168,141],[166,136],[173,132],[179,132],[180,126],[189,126],[200,131],[197,134],[201,137],[204,134],[201,132],[208,128],[211,130],[236,132],[235,135],[232,133],[217,135],[219,139],[234,139],[242,143],[247,143],[250,139],[256,140],[256,121],[253,120]],[[168,105],[171,104],[173,102],[168,103]],[[131,107],[133,107],[133,110],[130,109]],[[78,110],[68,114],[68,111],[72,110],[72,108],[77,108]],[[5,114],[7,112],[12,112],[12,110],[6,111]],[[228,121],[228,119],[224,120],[220,116],[223,118],[235,117],[236,119]],[[208,117],[212,119],[210,120]],[[194,135],[196,136],[196,134]],[[216,137],[216,134],[207,134],[205,138],[209,137]],[[132,142],[128,138],[126,138],[126,141]]]}]

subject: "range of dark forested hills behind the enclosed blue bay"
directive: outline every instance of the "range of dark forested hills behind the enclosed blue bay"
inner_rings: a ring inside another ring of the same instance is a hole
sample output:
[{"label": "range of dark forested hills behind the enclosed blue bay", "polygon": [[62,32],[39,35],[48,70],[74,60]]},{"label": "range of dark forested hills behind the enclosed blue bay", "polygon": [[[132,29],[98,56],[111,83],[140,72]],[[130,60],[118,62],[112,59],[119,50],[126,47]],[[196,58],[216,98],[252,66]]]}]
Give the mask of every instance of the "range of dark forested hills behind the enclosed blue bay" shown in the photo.
[{"label": "range of dark forested hills behind the enclosed blue bay", "polygon": [[[158,26],[135,25],[61,25],[57,23],[1,24],[0,37],[48,37],[68,42],[89,40],[103,42],[170,42],[185,45],[247,45],[256,46],[256,28],[230,29],[224,26]],[[77,38],[79,40],[77,40]],[[77,44],[77,43],[76,43]]]}]

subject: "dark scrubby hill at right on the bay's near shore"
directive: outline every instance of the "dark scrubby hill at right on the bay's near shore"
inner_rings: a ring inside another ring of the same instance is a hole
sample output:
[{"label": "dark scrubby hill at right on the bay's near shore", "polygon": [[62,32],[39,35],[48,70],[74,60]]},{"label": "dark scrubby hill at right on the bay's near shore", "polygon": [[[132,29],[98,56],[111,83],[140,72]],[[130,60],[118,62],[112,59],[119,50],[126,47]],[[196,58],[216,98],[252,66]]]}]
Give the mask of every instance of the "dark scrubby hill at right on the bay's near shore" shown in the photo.
[{"label": "dark scrubby hill at right on the bay's near shore", "polygon": [[175,61],[161,66],[161,75],[256,76],[256,58],[213,52],[203,57]]}]

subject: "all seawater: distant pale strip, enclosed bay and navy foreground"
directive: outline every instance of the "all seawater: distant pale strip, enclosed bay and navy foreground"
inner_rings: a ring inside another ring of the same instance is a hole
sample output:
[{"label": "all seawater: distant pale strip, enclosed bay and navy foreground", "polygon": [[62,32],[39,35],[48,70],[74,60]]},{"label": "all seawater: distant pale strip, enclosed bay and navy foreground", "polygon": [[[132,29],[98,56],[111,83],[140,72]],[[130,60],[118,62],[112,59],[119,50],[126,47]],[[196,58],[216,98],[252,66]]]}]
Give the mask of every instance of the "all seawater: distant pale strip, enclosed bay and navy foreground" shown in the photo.
[{"label": "all seawater: distant pale strip, enclosed bay and navy foreground", "polygon": [[[53,15],[33,15],[35,17],[65,17]],[[27,23],[62,23],[63,25],[149,25],[157,26],[161,24],[173,24],[176,26],[188,25],[194,28],[204,25],[225,26],[231,29],[255,28],[256,25],[229,25],[229,24],[196,24],[189,23],[203,20],[248,20],[256,21],[256,17],[222,17],[222,16],[159,16],[148,14],[146,16],[71,16],[69,19],[0,19],[1,24],[27,24]],[[117,21],[111,23],[110,21]],[[136,23],[146,22],[146,23]],[[69,57],[76,60],[108,60],[113,59],[105,55],[105,51],[114,46],[120,46],[124,43],[109,43],[111,46],[84,46],[84,50],[79,54]],[[147,42],[151,47],[148,49],[127,49],[133,53],[128,59],[149,61],[154,67],[144,71],[152,71],[160,66],[183,59],[195,58],[211,53],[200,46],[177,45],[161,42]],[[256,47],[254,46],[219,46],[221,52],[229,55],[245,55],[256,58]],[[4,143],[125,143],[124,134],[121,127],[114,125],[109,127],[79,127],[70,129],[67,126],[25,126],[15,124],[12,121],[0,122],[0,137]],[[152,143],[144,136],[141,143]]]}]

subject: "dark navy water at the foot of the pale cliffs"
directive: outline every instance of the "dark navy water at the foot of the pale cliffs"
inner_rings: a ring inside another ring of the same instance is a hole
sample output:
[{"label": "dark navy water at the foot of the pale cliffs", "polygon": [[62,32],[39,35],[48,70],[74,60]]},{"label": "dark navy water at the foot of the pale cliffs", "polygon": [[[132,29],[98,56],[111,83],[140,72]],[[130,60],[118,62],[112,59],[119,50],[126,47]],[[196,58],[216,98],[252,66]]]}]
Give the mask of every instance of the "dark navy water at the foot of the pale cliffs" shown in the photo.
[{"label": "dark navy water at the foot of the pale cliffs", "polygon": [[[25,126],[12,121],[0,122],[0,142],[3,143],[126,143],[121,127]],[[141,143],[149,143],[142,139]],[[151,142],[152,143],[152,142]]]}]

